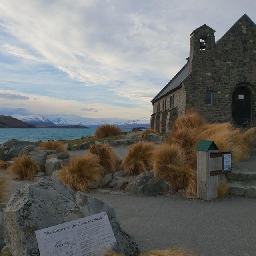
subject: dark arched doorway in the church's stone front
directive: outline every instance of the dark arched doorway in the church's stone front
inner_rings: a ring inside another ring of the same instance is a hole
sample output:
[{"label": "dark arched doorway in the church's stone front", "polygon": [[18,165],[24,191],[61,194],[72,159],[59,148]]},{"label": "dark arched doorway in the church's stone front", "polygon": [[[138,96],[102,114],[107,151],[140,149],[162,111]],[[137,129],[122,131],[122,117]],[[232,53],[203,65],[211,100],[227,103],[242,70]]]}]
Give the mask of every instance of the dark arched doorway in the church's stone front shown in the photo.
[{"label": "dark arched doorway in the church's stone front", "polygon": [[239,86],[232,95],[232,119],[237,125],[251,122],[251,93],[248,87]]}]

